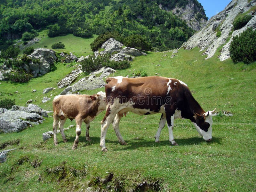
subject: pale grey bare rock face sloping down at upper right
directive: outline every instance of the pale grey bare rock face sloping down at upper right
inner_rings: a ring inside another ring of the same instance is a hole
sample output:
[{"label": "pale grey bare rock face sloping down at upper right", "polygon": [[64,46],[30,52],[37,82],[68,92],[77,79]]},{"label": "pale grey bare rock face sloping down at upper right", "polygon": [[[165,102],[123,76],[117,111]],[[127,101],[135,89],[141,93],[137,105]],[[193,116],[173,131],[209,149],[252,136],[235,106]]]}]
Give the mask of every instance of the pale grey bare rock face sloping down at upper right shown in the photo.
[{"label": "pale grey bare rock face sloping down at upper right", "polygon": [[[248,27],[256,28],[256,14],[253,7],[256,7],[256,0],[251,0],[249,3],[248,0],[231,1],[222,12],[213,16],[206,23],[206,26],[190,37],[188,42],[184,43],[181,48],[192,49],[199,47],[200,52],[205,50],[203,55],[207,55],[206,59],[209,59],[220,46],[224,45],[220,51],[219,59],[221,61],[228,59],[230,57],[229,45],[232,42],[232,36],[242,33]],[[240,13],[251,14],[252,19],[243,28],[232,32],[233,21]],[[218,31],[216,29],[221,32],[219,37],[216,36]],[[230,36],[231,32],[232,36]]]}]

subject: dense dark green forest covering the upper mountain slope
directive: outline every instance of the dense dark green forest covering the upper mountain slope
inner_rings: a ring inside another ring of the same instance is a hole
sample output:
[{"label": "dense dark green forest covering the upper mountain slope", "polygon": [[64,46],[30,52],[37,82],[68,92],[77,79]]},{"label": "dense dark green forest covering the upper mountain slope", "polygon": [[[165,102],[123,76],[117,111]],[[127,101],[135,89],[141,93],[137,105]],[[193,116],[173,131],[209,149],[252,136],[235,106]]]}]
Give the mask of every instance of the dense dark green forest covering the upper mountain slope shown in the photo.
[{"label": "dense dark green forest covering the upper mountain slope", "polygon": [[[194,34],[194,30],[172,12],[189,0],[5,0],[0,5],[0,46],[6,48],[13,40],[36,36],[48,29],[49,37],[73,33],[91,37],[117,31],[126,37],[145,36],[156,50],[177,48]],[[196,0],[193,2],[203,7]],[[26,34],[24,34],[26,32]]]}]

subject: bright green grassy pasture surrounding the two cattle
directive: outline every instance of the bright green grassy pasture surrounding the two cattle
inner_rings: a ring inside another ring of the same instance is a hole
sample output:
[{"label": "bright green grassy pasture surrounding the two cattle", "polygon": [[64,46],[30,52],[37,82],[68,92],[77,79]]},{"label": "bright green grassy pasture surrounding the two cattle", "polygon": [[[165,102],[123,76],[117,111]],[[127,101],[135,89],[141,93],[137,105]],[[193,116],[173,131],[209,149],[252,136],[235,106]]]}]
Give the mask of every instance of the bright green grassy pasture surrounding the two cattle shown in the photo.
[{"label": "bright green grassy pasture surrounding the two cattle", "polygon": [[[73,52],[68,48],[66,51]],[[20,139],[19,145],[3,149],[17,148],[0,164],[1,191],[82,191],[88,186],[98,191],[255,191],[256,62],[220,62],[218,53],[205,60],[198,51],[179,50],[173,58],[172,52],[148,52],[147,56],[136,57],[131,68],[112,76],[131,75],[134,69],[143,68],[148,76],[159,73],[185,82],[204,110],[217,107],[219,115],[213,117],[211,142],[205,142],[189,120],[177,119],[173,135],[180,146],[169,144],[167,128],[161,133],[161,142],[155,143],[161,115],[128,113],[120,122],[120,132],[128,145],[118,143],[110,126],[106,137],[108,152],[103,153],[99,147],[102,112],[91,123],[92,141],[85,140],[83,124],[78,148],[72,150],[75,128],[65,131],[67,143],[63,143],[60,134],[57,147],[52,138],[43,142],[42,133],[52,130],[50,113],[43,124],[19,133],[0,134],[0,143]],[[64,88],[58,89],[57,82],[73,69],[60,63],[56,68],[26,84],[1,82],[1,97],[15,98],[21,106],[33,99],[34,104],[52,110],[51,101],[43,104],[41,100],[58,95]],[[43,95],[46,87],[56,89]],[[37,92],[32,93],[33,89]],[[104,88],[82,93],[98,91]],[[222,111],[233,116],[224,116]],[[75,122],[67,120],[64,127],[70,124]],[[30,162],[41,164],[34,168]]]}]

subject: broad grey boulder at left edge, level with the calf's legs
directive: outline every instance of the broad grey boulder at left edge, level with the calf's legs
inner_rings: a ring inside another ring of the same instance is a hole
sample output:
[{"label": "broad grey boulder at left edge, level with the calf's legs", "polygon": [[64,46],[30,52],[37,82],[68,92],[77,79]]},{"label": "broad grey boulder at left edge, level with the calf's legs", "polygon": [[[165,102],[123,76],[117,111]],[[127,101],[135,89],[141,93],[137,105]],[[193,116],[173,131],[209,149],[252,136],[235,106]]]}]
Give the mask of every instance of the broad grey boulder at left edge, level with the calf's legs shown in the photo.
[{"label": "broad grey boulder at left edge, level with the calf's legs", "polygon": [[20,132],[33,124],[42,123],[44,118],[36,113],[7,110],[0,115],[0,132]]}]

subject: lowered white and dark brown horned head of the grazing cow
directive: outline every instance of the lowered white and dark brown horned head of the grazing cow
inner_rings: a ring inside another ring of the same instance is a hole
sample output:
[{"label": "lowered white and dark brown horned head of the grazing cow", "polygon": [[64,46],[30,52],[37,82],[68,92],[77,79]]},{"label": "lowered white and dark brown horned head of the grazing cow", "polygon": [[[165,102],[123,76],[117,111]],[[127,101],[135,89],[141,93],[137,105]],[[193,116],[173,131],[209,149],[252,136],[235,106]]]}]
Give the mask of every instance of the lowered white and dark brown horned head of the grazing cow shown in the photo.
[{"label": "lowered white and dark brown horned head of the grazing cow", "polygon": [[215,110],[216,108],[213,111],[207,111],[203,115],[194,113],[195,122],[193,124],[199,135],[206,141],[212,140],[212,113],[214,113]]}]

